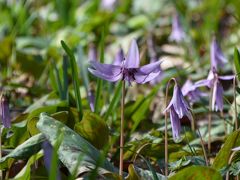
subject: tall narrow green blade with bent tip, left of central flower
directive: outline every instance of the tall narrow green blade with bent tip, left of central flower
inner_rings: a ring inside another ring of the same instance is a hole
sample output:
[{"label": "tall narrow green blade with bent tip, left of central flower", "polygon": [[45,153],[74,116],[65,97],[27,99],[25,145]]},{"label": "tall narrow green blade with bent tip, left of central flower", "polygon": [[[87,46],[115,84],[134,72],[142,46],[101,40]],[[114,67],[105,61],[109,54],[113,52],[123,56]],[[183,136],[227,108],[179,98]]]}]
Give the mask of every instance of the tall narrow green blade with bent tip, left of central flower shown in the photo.
[{"label": "tall narrow green blade with bent tip, left of central flower", "polygon": [[80,94],[80,89],[79,89],[80,85],[79,85],[79,79],[78,79],[78,70],[77,70],[76,59],[75,59],[75,56],[74,56],[72,50],[67,46],[67,44],[64,41],[61,41],[61,44],[70,59],[70,67],[71,67],[72,78],[73,78],[74,92],[75,92],[75,96],[76,96],[77,109],[79,111],[79,121],[81,121],[83,112],[82,112],[82,100],[81,100],[81,94]]}]

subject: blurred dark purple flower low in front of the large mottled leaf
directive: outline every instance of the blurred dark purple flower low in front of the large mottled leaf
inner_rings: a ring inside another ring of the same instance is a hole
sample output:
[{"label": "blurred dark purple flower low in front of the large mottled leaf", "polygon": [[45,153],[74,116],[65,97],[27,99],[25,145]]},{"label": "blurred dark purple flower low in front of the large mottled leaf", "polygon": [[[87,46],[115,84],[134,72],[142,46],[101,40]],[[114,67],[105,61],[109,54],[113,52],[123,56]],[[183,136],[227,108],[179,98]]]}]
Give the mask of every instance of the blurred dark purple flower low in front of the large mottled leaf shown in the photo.
[{"label": "blurred dark purple flower low in front of the large mottled leaf", "polygon": [[[48,170],[48,172],[50,173],[53,147],[48,141],[44,141],[42,143],[42,149],[43,149],[43,153],[44,153],[44,157],[43,157],[44,165],[45,165],[46,169]],[[57,180],[60,180],[60,179],[61,179],[61,176],[60,176],[60,172],[59,172],[59,168],[58,168],[57,169]]]}]

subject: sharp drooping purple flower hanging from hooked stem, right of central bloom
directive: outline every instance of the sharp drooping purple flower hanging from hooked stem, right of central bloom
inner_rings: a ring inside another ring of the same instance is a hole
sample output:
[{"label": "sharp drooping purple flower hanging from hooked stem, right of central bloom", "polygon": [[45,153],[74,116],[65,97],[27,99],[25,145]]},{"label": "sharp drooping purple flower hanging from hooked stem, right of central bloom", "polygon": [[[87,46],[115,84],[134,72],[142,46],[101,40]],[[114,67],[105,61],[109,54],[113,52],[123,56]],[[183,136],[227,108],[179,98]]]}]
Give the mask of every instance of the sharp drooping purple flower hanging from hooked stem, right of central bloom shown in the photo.
[{"label": "sharp drooping purple flower hanging from hooked stem, right of central bloom", "polygon": [[170,111],[173,138],[178,139],[180,137],[181,131],[180,119],[186,116],[189,120],[192,120],[192,114],[190,112],[190,107],[188,103],[183,97],[181,88],[177,85],[175,79],[174,81],[175,85],[173,90],[173,96],[164,112]]}]

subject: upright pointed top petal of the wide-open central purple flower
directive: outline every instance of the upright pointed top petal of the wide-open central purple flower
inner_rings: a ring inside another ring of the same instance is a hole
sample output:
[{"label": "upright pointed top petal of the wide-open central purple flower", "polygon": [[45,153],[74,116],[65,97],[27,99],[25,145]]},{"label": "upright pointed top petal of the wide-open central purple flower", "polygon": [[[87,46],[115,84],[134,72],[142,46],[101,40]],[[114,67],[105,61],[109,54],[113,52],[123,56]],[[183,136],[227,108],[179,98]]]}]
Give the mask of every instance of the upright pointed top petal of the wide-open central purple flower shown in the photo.
[{"label": "upright pointed top petal of the wide-open central purple flower", "polygon": [[132,40],[125,62],[125,68],[138,68],[140,64],[139,50],[135,39]]}]

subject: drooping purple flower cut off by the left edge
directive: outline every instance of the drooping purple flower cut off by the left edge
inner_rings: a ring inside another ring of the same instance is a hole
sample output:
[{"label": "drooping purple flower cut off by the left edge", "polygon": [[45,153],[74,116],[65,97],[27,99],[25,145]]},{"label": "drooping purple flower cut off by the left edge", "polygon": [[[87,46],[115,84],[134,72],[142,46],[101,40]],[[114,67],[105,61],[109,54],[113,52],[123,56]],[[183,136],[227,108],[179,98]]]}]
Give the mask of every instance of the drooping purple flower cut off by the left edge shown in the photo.
[{"label": "drooping purple flower cut off by the left edge", "polygon": [[5,128],[11,127],[11,116],[10,116],[10,109],[9,109],[9,102],[8,98],[5,95],[1,96],[1,116],[2,116],[2,123]]}]

